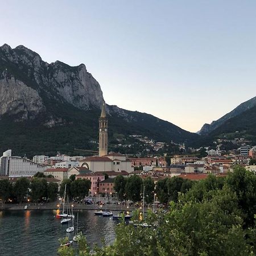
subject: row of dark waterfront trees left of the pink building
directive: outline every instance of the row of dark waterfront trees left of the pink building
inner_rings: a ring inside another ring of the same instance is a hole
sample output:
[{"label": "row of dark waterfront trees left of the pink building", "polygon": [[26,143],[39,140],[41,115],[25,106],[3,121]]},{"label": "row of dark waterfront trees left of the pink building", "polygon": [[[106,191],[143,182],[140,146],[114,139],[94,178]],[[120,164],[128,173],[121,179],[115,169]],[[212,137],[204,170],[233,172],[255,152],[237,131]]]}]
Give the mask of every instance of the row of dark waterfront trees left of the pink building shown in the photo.
[{"label": "row of dark waterfront trees left of the pink building", "polygon": [[[8,179],[0,180],[0,199],[3,203],[6,201],[22,203],[24,201],[40,202],[55,201],[58,195],[58,184],[49,182],[42,173],[36,174],[32,179],[20,177],[15,183]],[[64,193],[65,184],[67,184],[67,195],[70,199],[79,197],[84,198],[88,195],[90,189],[90,180],[64,180],[60,184],[60,196]]]}]

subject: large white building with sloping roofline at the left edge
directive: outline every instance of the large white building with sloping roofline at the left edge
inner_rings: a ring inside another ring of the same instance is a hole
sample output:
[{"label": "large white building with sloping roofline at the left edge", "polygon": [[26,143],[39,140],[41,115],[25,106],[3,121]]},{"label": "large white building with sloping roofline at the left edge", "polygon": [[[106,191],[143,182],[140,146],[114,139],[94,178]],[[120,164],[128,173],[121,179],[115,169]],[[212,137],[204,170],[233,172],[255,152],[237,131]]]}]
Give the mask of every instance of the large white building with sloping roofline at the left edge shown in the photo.
[{"label": "large white building with sloping roofline at the left edge", "polygon": [[34,176],[36,172],[43,172],[46,167],[34,163],[26,158],[11,156],[11,150],[3,152],[0,158],[0,174],[9,177]]}]

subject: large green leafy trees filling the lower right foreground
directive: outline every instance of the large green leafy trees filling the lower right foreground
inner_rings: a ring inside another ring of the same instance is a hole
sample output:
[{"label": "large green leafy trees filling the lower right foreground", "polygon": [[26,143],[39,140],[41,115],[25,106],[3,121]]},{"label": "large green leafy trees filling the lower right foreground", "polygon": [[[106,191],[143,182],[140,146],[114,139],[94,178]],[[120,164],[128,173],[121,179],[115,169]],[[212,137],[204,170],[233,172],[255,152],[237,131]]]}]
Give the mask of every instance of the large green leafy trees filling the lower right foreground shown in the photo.
[{"label": "large green leafy trees filling the lower right foreground", "polygon": [[[133,179],[138,182],[137,177]],[[130,187],[124,185],[131,182],[130,178],[121,181],[120,190]],[[151,228],[135,228],[123,220],[115,228],[112,245],[95,247],[92,253],[82,236],[78,247],[62,246],[59,255],[256,255],[256,175],[253,172],[238,166],[225,178],[209,175],[192,183],[184,193],[177,193],[177,197],[176,193],[171,197],[168,189],[171,181],[162,182],[157,186],[166,190],[163,195],[169,193],[167,197],[171,201],[167,212],[159,210],[154,214],[148,210],[142,223],[147,222]],[[163,199],[167,200],[166,196]],[[141,219],[138,211],[133,216],[133,221]]]}]

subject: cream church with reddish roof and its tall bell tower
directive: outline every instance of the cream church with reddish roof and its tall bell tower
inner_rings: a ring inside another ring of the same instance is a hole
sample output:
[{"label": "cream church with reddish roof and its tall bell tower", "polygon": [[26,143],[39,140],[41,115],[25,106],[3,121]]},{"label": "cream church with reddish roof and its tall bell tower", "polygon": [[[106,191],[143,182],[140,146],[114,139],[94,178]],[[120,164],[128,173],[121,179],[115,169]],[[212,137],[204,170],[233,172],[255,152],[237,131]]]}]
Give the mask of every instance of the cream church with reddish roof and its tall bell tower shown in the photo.
[{"label": "cream church with reddish roof and its tall bell tower", "polygon": [[108,154],[108,117],[106,116],[105,102],[102,105],[99,122],[98,156],[88,156],[79,161],[80,167],[86,167],[92,172],[133,172],[132,162],[125,155],[118,153]]}]

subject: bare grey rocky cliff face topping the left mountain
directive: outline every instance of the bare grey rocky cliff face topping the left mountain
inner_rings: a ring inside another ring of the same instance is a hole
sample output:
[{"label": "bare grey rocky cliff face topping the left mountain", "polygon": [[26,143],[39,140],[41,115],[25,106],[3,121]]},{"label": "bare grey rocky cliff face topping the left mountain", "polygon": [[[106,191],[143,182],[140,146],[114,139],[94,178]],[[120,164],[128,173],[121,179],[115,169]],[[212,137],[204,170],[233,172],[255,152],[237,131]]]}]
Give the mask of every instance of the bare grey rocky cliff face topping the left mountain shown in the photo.
[{"label": "bare grey rocky cliff face topping the left mountain", "polygon": [[83,110],[100,108],[104,101],[100,85],[84,64],[48,64],[24,46],[0,47],[0,79],[0,116],[20,114],[20,120],[33,119],[48,110],[49,100]]}]

